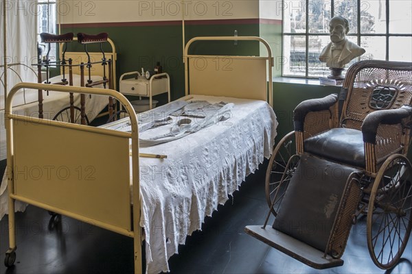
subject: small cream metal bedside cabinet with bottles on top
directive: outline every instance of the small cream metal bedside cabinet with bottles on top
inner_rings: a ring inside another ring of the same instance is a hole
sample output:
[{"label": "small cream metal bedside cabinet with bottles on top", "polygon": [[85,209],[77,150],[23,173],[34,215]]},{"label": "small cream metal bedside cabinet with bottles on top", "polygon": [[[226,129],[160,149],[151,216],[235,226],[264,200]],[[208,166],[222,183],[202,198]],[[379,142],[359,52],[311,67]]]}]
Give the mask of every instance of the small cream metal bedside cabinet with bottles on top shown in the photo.
[{"label": "small cream metal bedside cabinet with bottles on top", "polygon": [[[138,75],[140,79],[135,79],[135,77],[123,79],[130,75]],[[170,77],[168,73],[159,73],[148,80],[141,79],[141,74],[138,71],[124,73],[119,79],[119,92],[124,95],[149,97],[149,106],[152,109],[152,97],[155,95],[167,92],[170,102]]]}]

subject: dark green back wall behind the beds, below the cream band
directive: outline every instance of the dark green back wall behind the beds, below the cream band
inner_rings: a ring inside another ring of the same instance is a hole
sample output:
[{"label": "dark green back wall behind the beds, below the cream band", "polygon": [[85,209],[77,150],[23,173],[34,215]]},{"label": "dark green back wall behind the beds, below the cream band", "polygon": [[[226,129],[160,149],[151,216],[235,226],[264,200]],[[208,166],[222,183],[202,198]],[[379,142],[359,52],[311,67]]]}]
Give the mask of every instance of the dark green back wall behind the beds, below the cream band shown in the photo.
[{"label": "dark green back wall behind the beds, below the cream band", "polygon": [[[196,36],[233,36],[234,29],[238,35],[258,36],[258,24],[238,25],[186,25],[185,41]],[[117,48],[117,81],[123,73],[140,71],[141,67],[153,69],[156,62],[161,62],[163,71],[170,75],[172,99],[178,99],[185,95],[182,27],[181,25],[159,26],[130,26],[130,27],[62,27],[63,32],[84,32],[98,34],[107,32],[115,42]],[[72,46],[73,47],[73,46]],[[253,48],[252,50],[250,48]],[[82,51],[82,47],[76,47]],[[196,54],[234,54],[258,55],[257,43],[239,42],[237,46],[233,42],[207,42],[203,45],[194,45]],[[118,85],[117,85],[118,86]],[[161,103],[165,103],[167,97],[156,97]]]}]

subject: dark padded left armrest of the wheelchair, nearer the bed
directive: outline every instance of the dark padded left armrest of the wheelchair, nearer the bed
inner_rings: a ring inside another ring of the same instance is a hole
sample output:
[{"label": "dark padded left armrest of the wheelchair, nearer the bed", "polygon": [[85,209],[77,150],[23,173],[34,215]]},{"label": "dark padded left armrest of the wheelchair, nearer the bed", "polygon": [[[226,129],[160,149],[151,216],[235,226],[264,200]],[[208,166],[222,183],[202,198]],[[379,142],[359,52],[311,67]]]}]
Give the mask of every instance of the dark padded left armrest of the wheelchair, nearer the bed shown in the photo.
[{"label": "dark padded left armrest of the wheelchair, nearer the bed", "polygon": [[293,111],[293,125],[295,126],[295,131],[304,131],[305,117],[309,112],[328,110],[334,103],[336,103],[336,101],[338,101],[338,95],[332,93],[323,98],[309,99],[299,103]]}]

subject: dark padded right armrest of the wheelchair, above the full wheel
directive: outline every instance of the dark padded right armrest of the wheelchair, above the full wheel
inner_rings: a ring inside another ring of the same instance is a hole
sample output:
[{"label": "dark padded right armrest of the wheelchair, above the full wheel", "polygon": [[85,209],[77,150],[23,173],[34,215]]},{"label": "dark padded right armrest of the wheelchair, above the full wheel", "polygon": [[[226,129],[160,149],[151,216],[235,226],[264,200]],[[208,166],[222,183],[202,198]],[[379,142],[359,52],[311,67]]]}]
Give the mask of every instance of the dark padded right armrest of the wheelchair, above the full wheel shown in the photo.
[{"label": "dark padded right armrest of the wheelchair, above the full wheel", "polygon": [[375,144],[376,133],[380,124],[394,125],[402,119],[412,116],[412,106],[403,105],[396,110],[376,110],[367,114],[362,123],[363,141]]}]

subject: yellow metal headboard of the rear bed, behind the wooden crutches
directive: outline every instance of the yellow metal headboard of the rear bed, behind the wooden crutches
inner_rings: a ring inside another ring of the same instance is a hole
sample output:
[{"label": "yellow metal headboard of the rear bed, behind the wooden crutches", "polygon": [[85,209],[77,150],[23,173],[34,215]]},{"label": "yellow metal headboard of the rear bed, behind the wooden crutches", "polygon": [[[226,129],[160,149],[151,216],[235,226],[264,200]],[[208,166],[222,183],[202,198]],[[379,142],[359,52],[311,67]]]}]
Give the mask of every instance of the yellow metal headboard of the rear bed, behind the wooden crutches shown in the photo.
[{"label": "yellow metal headboard of the rear bed, behind the wooden crutches", "polygon": [[[77,41],[77,38],[73,38],[73,41]],[[106,60],[112,60],[113,89],[116,89],[116,47],[113,43],[113,40],[111,40],[110,38],[107,38],[107,42],[111,45],[111,51],[104,51],[104,55],[106,56]],[[60,60],[62,60],[62,46],[62,43],[60,43]],[[89,55],[91,62],[100,62],[103,58],[103,54],[100,51],[89,51]],[[66,60],[71,58],[73,60],[73,64],[80,64],[82,62],[87,63],[87,54],[84,51],[66,51],[65,58]],[[87,69],[85,69],[85,73],[88,73]],[[73,66],[73,74],[80,75],[80,66]],[[93,64],[93,66],[91,67],[91,74],[103,76],[103,66],[101,64]],[[106,71],[106,76],[108,76],[108,71]]]}]

